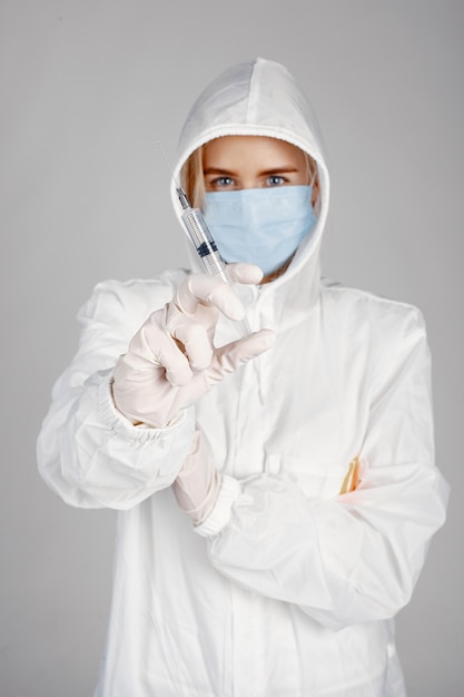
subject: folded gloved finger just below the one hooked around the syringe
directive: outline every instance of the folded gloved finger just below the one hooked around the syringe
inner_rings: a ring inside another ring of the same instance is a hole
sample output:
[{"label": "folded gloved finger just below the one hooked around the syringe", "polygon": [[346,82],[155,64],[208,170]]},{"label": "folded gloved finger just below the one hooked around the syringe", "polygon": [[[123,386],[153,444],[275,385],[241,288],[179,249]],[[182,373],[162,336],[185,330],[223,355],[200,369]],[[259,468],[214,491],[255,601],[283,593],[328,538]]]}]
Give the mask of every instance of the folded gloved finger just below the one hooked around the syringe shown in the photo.
[{"label": "folded gloved finger just below the one hooked around the syringe", "polygon": [[208,367],[213,345],[206,326],[176,308],[175,312],[168,312],[166,327],[172,338],[180,342],[194,372]]}]

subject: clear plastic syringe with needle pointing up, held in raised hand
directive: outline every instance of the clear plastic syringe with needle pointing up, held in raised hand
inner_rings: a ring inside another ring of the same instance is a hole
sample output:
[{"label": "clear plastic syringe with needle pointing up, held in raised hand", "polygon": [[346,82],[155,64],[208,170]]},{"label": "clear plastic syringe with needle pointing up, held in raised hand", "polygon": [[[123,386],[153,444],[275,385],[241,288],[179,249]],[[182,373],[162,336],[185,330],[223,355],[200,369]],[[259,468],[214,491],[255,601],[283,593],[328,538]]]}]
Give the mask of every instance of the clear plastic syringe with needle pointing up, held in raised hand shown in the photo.
[{"label": "clear plastic syringe with needle pointing up, held in raised hand", "polygon": [[[213,235],[208,229],[205,218],[203,217],[201,210],[190,206],[187,194],[180,186],[176,186],[176,192],[182,207],[182,223],[186,226],[206,273],[209,276],[220,276],[223,281],[233,285],[227,273],[227,264],[219,254]],[[235,322],[234,324],[241,336],[251,334],[251,328],[246,317],[241,321]]]}]

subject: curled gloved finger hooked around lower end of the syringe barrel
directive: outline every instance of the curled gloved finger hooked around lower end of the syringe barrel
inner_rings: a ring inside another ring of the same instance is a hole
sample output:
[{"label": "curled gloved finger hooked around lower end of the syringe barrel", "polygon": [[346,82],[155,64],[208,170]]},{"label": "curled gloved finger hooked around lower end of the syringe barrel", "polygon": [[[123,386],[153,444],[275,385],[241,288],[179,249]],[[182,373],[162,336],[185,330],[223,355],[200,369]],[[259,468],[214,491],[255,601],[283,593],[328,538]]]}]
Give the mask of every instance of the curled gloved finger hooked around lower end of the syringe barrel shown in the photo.
[{"label": "curled gloved finger hooked around lower end of the syringe barrel", "polygon": [[213,305],[229,320],[243,320],[245,308],[228,283],[217,276],[192,274],[177,288],[176,306],[187,314],[195,314],[198,305]]}]

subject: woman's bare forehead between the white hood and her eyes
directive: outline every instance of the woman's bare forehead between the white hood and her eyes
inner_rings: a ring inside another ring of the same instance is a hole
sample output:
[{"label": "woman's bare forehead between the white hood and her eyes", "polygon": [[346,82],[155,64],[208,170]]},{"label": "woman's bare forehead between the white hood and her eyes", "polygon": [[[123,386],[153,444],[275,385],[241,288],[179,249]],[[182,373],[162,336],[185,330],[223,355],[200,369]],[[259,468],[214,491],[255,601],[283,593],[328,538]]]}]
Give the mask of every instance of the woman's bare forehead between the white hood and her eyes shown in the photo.
[{"label": "woman's bare forehead between the white hood and her eyes", "polygon": [[204,166],[247,161],[303,166],[305,158],[290,143],[267,136],[223,136],[204,146]]}]

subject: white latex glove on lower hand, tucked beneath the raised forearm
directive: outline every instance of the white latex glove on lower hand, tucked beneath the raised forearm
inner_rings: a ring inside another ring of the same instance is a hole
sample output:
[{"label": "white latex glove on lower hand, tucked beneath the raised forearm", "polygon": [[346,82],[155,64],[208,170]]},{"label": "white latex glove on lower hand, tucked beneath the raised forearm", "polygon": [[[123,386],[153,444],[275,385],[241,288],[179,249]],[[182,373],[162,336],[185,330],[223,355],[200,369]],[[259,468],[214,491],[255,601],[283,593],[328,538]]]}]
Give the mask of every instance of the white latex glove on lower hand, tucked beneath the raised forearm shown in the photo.
[{"label": "white latex glove on lower hand, tucked beneath the raised forearm", "polygon": [[213,463],[210,450],[199,431],[195,432],[191,450],[172,484],[180,509],[195,526],[211,512],[220,489],[220,473]]}]

